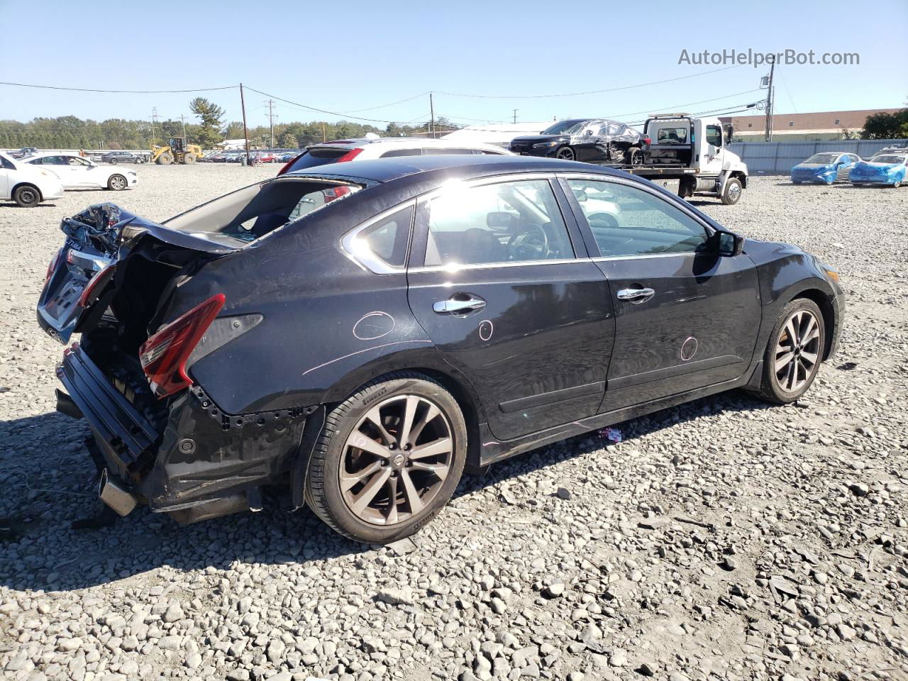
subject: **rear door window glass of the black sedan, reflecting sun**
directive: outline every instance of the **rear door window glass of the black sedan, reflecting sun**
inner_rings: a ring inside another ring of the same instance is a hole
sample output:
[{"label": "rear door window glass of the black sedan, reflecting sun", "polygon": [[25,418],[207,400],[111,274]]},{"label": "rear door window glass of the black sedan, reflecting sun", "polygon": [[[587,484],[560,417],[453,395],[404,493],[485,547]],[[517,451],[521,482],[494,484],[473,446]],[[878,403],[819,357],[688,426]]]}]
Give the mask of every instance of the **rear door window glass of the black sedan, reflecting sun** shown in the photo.
[{"label": "rear door window glass of the black sedan, reflecting sun", "polygon": [[547,180],[450,183],[428,202],[426,265],[478,265],[573,258]]}]

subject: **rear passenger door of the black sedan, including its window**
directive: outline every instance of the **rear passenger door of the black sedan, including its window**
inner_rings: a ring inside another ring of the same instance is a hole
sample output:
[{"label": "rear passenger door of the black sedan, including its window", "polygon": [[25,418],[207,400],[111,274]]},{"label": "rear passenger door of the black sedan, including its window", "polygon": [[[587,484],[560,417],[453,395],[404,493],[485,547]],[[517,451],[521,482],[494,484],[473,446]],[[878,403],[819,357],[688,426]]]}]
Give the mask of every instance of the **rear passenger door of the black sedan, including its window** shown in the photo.
[{"label": "rear passenger door of the black sedan, including its window", "polygon": [[595,414],[615,321],[557,183],[449,183],[420,200],[416,225],[410,309],[472,382],[495,437]]}]

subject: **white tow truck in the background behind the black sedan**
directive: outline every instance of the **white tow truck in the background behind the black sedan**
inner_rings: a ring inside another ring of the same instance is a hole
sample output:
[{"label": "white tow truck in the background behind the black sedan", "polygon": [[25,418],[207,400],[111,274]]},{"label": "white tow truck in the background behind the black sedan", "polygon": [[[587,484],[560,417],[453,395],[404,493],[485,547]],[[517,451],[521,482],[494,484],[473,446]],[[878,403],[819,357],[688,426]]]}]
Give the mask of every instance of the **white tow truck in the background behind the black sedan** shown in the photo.
[{"label": "white tow truck in the background behind the black sedan", "polygon": [[728,150],[733,133],[716,117],[653,115],[644,125],[649,153],[643,154],[642,163],[608,165],[646,177],[683,198],[705,194],[732,205],[747,187],[747,165]]}]

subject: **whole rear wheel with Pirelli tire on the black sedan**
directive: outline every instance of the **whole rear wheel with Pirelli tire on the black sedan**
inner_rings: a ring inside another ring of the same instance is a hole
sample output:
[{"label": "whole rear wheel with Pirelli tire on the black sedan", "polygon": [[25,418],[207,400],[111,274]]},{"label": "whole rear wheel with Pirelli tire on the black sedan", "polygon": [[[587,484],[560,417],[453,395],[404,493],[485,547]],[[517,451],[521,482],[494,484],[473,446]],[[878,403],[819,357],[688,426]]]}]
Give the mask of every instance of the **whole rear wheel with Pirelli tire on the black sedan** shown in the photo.
[{"label": "whole rear wheel with Pirelli tire on the black sedan", "polygon": [[457,487],[467,426],[448,390],[400,371],[373,380],[325,420],[305,497],[342,535],[384,544],[419,531]]}]

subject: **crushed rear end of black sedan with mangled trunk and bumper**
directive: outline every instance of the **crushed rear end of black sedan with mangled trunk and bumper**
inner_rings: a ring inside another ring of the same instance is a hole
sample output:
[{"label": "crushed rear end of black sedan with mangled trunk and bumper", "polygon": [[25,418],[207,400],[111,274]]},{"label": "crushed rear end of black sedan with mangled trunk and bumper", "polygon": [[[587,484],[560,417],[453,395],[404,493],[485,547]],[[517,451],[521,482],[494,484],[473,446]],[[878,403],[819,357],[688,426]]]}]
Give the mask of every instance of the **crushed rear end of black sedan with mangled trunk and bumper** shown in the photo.
[{"label": "crushed rear end of black sedan with mangled trunk and bumper", "polygon": [[252,330],[222,293],[183,284],[244,244],[144,220],[109,203],[61,225],[38,323],[67,344],[57,409],[88,421],[102,469],[99,495],[125,515],[138,503],[182,522],[257,508],[262,484],[290,465],[304,410],[224,413],[192,380],[192,364]]}]

